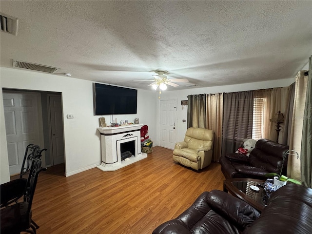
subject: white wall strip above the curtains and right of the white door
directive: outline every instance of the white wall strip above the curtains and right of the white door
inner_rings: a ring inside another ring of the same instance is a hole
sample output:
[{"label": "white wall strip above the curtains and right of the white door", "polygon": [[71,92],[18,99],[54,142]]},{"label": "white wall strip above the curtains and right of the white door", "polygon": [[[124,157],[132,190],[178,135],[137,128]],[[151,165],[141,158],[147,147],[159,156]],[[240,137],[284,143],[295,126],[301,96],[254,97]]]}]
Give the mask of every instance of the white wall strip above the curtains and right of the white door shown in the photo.
[{"label": "white wall strip above the curtains and right of the white door", "polygon": [[[195,88],[195,89],[186,89],[179,91],[164,91],[161,93],[162,100],[177,100],[177,138],[176,141],[183,141],[185,132],[187,129],[187,106],[184,106],[182,110],[181,100],[187,100],[188,95],[195,94],[213,94],[213,93],[230,93],[230,92],[240,92],[240,91],[248,91],[248,90],[257,90],[257,89],[268,89],[268,88],[276,88],[276,87],[286,87],[291,85],[295,81],[294,78],[288,79],[279,79],[272,81],[262,81],[262,82],[254,82],[254,83],[245,83],[245,84],[236,84],[236,85],[224,85],[224,86],[215,86],[215,87],[207,87],[207,88]],[[182,120],[186,121],[183,122]]]}]

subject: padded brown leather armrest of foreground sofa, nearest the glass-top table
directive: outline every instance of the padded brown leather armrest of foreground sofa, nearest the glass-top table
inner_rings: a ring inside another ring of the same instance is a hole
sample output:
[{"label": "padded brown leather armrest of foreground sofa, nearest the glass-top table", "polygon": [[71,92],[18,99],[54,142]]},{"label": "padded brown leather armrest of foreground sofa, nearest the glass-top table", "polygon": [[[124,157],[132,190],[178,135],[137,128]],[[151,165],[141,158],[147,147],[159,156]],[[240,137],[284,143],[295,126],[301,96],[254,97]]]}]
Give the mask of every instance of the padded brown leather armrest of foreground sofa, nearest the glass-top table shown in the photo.
[{"label": "padded brown leather armrest of foreground sofa, nearest the glass-top table", "polygon": [[260,214],[251,205],[219,190],[213,190],[207,196],[208,205],[227,220],[231,220],[237,227],[244,230]]}]

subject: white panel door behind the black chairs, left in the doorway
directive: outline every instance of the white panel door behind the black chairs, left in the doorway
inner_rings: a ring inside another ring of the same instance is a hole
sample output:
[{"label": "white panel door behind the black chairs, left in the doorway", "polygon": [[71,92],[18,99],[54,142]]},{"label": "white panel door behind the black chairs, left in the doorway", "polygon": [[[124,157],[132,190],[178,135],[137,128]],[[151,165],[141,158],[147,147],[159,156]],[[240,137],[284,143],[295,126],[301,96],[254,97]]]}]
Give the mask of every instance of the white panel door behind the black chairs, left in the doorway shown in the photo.
[{"label": "white panel door behind the black chairs, left in the doorway", "polygon": [[10,175],[20,173],[27,145],[40,144],[38,95],[3,92]]}]

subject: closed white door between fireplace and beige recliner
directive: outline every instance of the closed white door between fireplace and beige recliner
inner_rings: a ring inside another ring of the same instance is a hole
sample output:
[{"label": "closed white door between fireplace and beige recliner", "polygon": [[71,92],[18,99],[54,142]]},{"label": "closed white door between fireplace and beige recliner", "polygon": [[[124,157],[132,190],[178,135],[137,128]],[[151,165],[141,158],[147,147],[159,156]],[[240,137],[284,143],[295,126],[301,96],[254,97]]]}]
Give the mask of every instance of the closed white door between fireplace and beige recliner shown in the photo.
[{"label": "closed white door between fireplace and beige recliner", "polygon": [[176,100],[160,100],[160,146],[174,149],[176,144]]}]

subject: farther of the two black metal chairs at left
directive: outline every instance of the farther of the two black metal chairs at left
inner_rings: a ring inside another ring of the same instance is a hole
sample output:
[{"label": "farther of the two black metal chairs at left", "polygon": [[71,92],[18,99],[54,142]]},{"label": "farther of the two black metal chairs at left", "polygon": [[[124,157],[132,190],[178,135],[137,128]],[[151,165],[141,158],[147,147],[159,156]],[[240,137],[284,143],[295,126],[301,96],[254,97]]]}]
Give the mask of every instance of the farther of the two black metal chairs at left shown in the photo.
[{"label": "farther of the two black metal chairs at left", "polygon": [[[20,178],[0,185],[0,207],[5,207],[11,203],[17,203],[25,194],[26,185],[30,178],[29,171],[33,158],[41,157],[41,153],[46,149],[40,150],[38,145],[29,144],[26,147],[22,166],[20,169]],[[25,177],[28,174],[28,178]]]}]

